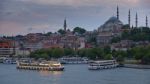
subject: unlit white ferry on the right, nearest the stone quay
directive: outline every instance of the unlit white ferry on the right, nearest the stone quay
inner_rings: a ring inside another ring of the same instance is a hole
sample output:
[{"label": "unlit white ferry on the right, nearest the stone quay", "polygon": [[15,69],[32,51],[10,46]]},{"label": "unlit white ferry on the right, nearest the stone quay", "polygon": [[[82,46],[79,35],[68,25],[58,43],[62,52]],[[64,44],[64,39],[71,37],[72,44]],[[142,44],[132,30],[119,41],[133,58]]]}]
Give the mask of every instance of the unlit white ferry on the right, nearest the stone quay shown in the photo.
[{"label": "unlit white ferry on the right, nearest the stone quay", "polygon": [[101,70],[101,69],[111,69],[118,66],[116,60],[101,60],[101,61],[92,61],[89,63],[89,70]]}]

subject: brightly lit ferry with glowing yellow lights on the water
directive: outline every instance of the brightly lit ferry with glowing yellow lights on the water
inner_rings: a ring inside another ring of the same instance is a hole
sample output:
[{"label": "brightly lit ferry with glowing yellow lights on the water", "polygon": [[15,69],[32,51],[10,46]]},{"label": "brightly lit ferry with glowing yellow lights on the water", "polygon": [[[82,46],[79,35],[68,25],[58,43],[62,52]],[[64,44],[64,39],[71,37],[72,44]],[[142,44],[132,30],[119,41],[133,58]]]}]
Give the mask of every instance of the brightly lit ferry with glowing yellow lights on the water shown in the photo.
[{"label": "brightly lit ferry with glowing yellow lights on the water", "polygon": [[63,71],[64,66],[62,66],[57,61],[43,61],[43,62],[17,62],[17,69],[27,69],[27,70],[47,70],[47,71]]}]

